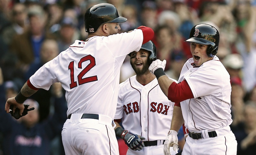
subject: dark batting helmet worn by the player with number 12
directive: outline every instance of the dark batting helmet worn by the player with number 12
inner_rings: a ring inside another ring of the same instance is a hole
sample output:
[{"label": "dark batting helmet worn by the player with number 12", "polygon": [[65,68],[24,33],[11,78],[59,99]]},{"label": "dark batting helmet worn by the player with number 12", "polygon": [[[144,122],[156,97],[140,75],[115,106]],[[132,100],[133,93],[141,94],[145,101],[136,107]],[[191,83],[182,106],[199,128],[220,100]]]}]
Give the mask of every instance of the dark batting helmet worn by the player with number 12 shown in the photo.
[{"label": "dark batting helmet worn by the player with number 12", "polygon": [[121,23],[127,18],[118,15],[116,7],[109,3],[100,3],[90,7],[84,14],[86,32],[96,32],[101,24]]}]

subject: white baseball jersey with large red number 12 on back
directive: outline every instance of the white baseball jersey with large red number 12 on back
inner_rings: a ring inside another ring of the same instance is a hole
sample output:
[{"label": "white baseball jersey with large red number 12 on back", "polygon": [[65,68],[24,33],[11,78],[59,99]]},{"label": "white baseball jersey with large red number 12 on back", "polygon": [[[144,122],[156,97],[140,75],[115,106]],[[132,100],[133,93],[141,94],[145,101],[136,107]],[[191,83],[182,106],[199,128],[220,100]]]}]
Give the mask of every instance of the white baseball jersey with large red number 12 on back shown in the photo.
[{"label": "white baseball jersey with large red number 12 on back", "polygon": [[143,33],[93,36],[76,40],[57,57],[44,64],[30,77],[36,88],[49,90],[60,82],[66,91],[69,114],[101,114],[114,118],[120,68],[127,54],[139,51]]}]

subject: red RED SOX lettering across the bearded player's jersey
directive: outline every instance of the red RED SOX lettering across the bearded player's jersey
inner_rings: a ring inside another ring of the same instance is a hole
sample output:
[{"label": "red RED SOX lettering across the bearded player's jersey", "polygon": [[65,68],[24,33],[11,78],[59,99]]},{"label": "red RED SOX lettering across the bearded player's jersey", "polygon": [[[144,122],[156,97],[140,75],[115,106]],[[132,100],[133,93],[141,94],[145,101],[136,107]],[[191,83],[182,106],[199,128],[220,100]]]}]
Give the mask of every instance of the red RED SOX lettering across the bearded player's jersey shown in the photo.
[{"label": "red RED SOX lettering across the bearded player's jersey", "polygon": [[[168,109],[170,106],[164,105],[163,103],[157,104],[157,102],[152,102],[150,103],[151,112],[157,112],[161,114],[167,115]],[[130,113],[137,113],[139,112],[139,104],[138,102],[133,102],[133,103],[128,103],[127,105],[123,106],[125,114],[130,114]]]}]

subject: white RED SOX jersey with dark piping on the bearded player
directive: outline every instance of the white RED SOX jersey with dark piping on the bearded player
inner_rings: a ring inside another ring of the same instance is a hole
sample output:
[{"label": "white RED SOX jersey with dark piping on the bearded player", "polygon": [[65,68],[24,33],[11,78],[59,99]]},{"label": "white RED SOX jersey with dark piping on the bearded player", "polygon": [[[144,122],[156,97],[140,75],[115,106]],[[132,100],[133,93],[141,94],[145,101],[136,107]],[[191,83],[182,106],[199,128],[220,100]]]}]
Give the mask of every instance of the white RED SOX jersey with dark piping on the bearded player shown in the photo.
[{"label": "white RED SOX jersey with dark piping on the bearded player", "polygon": [[[119,85],[115,119],[123,118],[124,129],[145,137],[143,141],[165,140],[170,130],[173,106],[174,103],[164,95],[156,78],[147,85],[141,85],[135,75]],[[163,154],[163,146],[149,147],[157,149],[156,154]],[[133,151],[132,154],[143,151],[145,154],[146,150]],[[149,152],[152,154],[152,150]]]}]

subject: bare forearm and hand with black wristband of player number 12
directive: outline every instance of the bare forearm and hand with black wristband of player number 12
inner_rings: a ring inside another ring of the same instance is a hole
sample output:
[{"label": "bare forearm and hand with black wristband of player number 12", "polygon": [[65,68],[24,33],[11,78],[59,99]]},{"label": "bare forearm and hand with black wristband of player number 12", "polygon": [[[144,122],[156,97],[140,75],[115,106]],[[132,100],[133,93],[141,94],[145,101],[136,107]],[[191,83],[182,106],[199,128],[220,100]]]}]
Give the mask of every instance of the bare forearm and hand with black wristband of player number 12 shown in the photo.
[{"label": "bare forearm and hand with black wristband of player number 12", "polygon": [[27,100],[27,98],[31,95],[33,95],[37,90],[31,89],[28,86],[28,82],[26,82],[20,92],[18,93],[18,95],[16,97],[12,97],[7,99],[6,103],[5,103],[5,111],[6,113],[10,113],[10,106],[13,105],[13,113],[15,113],[15,109],[18,108],[20,109],[20,115],[22,115],[23,111],[24,111],[24,105],[23,102],[25,100]]}]

